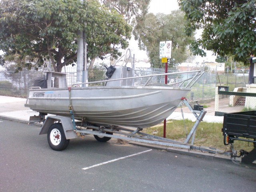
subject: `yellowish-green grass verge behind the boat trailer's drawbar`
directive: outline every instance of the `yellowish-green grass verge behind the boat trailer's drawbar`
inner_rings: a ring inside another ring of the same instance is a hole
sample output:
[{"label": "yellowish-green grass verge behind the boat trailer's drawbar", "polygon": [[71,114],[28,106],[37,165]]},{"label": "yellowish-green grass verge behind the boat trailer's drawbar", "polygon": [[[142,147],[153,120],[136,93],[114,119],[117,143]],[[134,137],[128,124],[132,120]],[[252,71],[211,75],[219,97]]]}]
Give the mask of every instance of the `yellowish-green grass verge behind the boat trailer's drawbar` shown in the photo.
[{"label": "yellowish-green grass verge behind the boat trailer's drawbar", "polygon": [[[166,123],[166,138],[184,142],[186,135],[189,134],[195,122],[185,119],[183,120],[170,120]],[[220,150],[226,150],[223,143],[222,136],[222,123],[208,123],[200,122],[196,130],[194,145],[214,147]],[[143,132],[156,136],[163,136],[163,125],[157,125],[144,129]],[[234,141],[235,150],[246,150],[250,152],[253,149],[253,144],[244,141]],[[229,146],[227,148],[229,150]]]}]

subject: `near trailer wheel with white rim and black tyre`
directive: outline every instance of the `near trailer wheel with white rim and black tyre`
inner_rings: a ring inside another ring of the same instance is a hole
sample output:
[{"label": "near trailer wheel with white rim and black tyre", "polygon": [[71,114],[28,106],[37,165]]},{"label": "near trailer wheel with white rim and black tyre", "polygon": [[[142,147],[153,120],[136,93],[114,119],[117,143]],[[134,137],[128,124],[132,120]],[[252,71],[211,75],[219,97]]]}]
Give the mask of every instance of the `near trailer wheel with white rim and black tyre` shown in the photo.
[{"label": "near trailer wheel with white rim and black tyre", "polygon": [[61,151],[67,148],[69,139],[66,139],[64,130],[60,123],[52,124],[47,133],[49,146],[55,151]]}]

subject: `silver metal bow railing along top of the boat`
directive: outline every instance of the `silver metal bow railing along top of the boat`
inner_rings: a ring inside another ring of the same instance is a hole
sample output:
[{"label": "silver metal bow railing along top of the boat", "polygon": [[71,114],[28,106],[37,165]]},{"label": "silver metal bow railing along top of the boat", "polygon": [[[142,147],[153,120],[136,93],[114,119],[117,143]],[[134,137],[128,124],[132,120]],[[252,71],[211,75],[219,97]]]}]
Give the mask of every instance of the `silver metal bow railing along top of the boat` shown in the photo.
[{"label": "silver metal bow railing along top of the boat", "polygon": [[204,72],[202,72],[201,70],[185,71],[185,72],[162,73],[162,74],[150,74],[150,75],[143,75],[143,76],[127,77],[127,78],[117,78],[117,79],[110,79],[110,80],[101,80],[101,81],[94,81],[94,82],[75,83],[75,84],[72,84],[72,87],[73,86],[78,86],[78,85],[98,84],[98,83],[111,82],[111,81],[120,81],[120,80],[128,80],[128,79],[137,79],[137,78],[146,78],[146,77],[148,77],[148,80],[143,85],[143,86],[146,86],[147,84],[149,84],[150,80],[154,76],[167,76],[167,75],[188,74],[188,73],[195,73],[195,74],[194,74],[194,76],[186,78],[184,80],[180,80],[180,81],[177,81],[177,82],[170,82],[170,83],[168,83],[168,85],[172,86],[172,85],[175,85],[175,84],[179,84],[178,87],[181,87],[184,84],[184,82],[189,81],[188,84],[186,84],[185,88],[191,88],[199,80],[199,78],[204,74]]}]

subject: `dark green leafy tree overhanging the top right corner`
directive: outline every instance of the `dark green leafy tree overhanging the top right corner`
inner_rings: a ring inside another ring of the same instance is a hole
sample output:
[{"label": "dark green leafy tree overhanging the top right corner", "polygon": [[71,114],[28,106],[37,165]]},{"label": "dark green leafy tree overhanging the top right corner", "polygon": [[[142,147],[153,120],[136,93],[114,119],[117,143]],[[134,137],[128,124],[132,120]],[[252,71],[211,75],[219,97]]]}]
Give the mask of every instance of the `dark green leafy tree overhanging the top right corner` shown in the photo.
[{"label": "dark green leafy tree overhanging the top right corner", "polygon": [[212,50],[244,64],[256,55],[256,0],[179,0],[179,5],[185,12],[186,34],[203,29],[201,38],[190,45],[194,55]]}]

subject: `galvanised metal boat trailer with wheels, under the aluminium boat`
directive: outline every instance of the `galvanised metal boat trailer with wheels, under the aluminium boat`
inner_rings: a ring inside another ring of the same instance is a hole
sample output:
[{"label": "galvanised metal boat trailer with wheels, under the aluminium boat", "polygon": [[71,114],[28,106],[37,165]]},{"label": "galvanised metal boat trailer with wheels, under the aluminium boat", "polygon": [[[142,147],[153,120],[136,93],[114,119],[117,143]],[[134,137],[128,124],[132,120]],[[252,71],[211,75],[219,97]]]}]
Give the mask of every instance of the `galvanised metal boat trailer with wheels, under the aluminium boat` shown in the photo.
[{"label": "galvanised metal boat trailer with wheels, under the aluminium boat", "polygon": [[[39,116],[40,120],[44,121],[40,134],[47,134],[48,144],[53,150],[57,151],[64,150],[68,146],[70,139],[77,137],[84,138],[84,136],[92,134],[96,140],[100,142],[106,142],[111,138],[117,138],[126,141],[142,142],[188,150],[199,150],[213,154],[224,154],[230,156],[233,152],[223,152],[216,148],[193,145],[196,129],[199,123],[203,120],[206,111],[202,106],[194,106],[196,109],[194,110],[186,98],[181,98],[181,100],[196,117],[196,122],[184,142],[146,134],[141,132],[142,128],[134,130],[134,128],[129,127],[125,128],[113,125],[95,124],[86,121],[76,121],[65,116],[47,116],[47,118],[44,119],[45,114],[41,114]],[[35,117],[31,122],[35,122]]]}]

